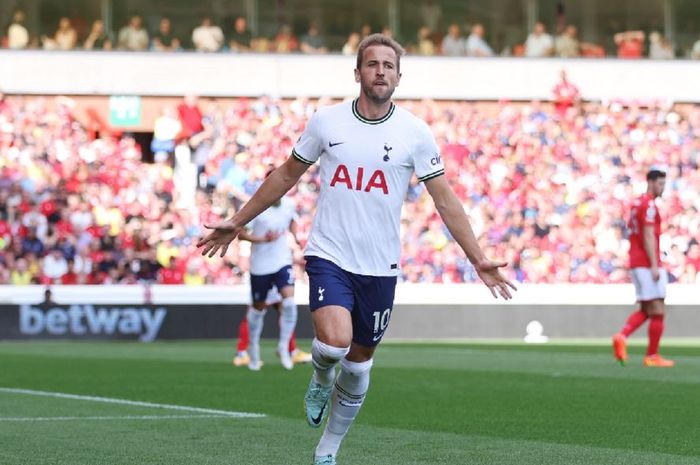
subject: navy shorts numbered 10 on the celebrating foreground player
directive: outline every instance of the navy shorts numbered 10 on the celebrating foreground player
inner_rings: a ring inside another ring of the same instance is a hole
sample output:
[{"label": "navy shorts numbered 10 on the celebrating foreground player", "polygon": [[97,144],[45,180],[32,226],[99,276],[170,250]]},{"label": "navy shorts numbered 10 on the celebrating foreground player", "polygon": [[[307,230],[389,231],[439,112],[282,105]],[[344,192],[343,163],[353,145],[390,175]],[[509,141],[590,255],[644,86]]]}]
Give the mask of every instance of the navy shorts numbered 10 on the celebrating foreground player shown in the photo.
[{"label": "navy shorts numbered 10 on the celebrating foreground player", "polygon": [[307,256],[309,308],[340,305],[352,316],[352,340],[374,347],[389,326],[396,293],[396,276],[366,276],[350,273],[319,257]]}]

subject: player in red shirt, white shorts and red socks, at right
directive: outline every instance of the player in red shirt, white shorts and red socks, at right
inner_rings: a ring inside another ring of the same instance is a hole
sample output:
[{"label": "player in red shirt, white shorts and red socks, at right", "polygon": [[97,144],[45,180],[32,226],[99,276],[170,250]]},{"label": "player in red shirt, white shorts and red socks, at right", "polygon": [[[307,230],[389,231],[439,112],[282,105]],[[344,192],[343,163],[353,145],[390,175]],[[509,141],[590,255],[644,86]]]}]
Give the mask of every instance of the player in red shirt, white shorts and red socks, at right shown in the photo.
[{"label": "player in red shirt, white shorts and red socks, at right", "polygon": [[664,332],[664,299],[668,275],[661,264],[659,236],[661,216],[656,207],[666,185],[663,168],[652,167],[647,173],[647,191],[632,204],[629,220],[630,268],[640,308],[627,319],[622,331],[613,336],[613,353],[620,364],[627,363],[627,337],[649,320],[649,345],[644,366],[672,367],[674,362],[659,355],[659,341]]}]

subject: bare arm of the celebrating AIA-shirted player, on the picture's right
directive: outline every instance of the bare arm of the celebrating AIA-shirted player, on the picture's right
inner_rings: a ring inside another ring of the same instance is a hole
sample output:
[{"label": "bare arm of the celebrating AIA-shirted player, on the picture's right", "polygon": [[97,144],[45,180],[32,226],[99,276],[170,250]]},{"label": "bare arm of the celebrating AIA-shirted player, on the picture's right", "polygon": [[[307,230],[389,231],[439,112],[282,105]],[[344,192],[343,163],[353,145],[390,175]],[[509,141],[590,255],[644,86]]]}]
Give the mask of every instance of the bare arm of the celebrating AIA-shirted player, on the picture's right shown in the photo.
[{"label": "bare arm of the celebrating AIA-shirted player, on the picture's right", "polygon": [[433,198],[435,207],[450,234],[464,250],[493,296],[497,297],[500,294],[504,299],[510,299],[512,297],[510,289],[516,290],[516,287],[499,271],[499,268],[507,266],[507,263],[491,261],[484,256],[469,218],[445,176],[437,176],[425,181],[425,187]]}]

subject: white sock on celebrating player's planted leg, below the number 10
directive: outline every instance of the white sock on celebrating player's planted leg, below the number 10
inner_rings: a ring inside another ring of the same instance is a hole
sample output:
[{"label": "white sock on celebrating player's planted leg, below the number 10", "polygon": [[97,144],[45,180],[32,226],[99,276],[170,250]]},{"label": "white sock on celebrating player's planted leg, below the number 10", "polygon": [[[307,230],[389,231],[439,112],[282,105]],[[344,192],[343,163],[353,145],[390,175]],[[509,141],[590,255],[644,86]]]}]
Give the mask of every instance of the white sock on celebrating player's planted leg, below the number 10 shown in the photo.
[{"label": "white sock on celebrating player's planted leg, below the number 10", "polygon": [[323,436],[316,447],[316,456],[336,455],[340,442],[355,420],[369,388],[369,371],[372,359],[366,362],[340,362],[340,374],[331,393],[331,411]]}]

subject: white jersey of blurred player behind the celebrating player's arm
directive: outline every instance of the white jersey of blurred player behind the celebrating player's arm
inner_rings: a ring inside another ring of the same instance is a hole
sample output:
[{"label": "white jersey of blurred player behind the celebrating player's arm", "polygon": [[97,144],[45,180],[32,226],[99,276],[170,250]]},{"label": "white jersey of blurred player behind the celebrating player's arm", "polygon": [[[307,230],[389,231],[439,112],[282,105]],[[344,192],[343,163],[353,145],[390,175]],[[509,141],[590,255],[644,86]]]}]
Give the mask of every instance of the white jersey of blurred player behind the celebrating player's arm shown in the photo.
[{"label": "white jersey of blurred player behind the celebrating player's arm", "polygon": [[248,223],[248,228],[254,236],[264,237],[268,232],[274,231],[280,233],[272,242],[259,242],[251,246],[250,274],[272,274],[292,264],[292,250],[289,248],[287,231],[295,217],[294,202],[282,197],[278,207],[268,208]]}]

